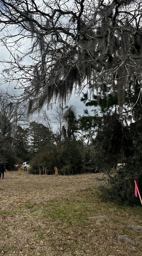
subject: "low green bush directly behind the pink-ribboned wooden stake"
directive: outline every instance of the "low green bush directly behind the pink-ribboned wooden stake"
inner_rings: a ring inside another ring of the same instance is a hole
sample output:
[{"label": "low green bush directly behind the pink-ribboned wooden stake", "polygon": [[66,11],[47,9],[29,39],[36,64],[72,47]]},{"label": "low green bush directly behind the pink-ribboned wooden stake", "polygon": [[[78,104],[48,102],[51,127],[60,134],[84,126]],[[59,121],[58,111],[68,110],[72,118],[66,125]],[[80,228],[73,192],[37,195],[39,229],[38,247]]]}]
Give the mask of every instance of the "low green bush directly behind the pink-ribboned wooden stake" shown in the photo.
[{"label": "low green bush directly behind the pink-ribboned wooden stake", "polygon": [[141,167],[125,165],[107,174],[106,184],[100,186],[100,192],[104,199],[112,200],[119,204],[136,205],[140,204],[139,198],[135,198],[134,180],[137,181],[139,191],[142,191],[142,170]]}]

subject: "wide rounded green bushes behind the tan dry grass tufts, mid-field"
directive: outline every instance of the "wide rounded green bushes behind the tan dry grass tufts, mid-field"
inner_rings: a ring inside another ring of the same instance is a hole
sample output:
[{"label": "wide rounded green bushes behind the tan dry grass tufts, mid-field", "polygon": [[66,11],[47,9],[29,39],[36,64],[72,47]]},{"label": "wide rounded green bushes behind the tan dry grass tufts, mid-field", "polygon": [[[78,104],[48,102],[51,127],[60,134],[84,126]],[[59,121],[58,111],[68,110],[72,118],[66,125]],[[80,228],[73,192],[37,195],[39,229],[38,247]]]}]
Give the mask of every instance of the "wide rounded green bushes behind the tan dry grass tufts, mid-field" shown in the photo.
[{"label": "wide rounded green bushes behind the tan dry grass tufts, mid-field", "polygon": [[80,141],[66,141],[61,147],[47,144],[30,162],[29,173],[41,174],[47,168],[47,174],[54,174],[57,166],[59,174],[78,174],[83,171],[83,144]]}]

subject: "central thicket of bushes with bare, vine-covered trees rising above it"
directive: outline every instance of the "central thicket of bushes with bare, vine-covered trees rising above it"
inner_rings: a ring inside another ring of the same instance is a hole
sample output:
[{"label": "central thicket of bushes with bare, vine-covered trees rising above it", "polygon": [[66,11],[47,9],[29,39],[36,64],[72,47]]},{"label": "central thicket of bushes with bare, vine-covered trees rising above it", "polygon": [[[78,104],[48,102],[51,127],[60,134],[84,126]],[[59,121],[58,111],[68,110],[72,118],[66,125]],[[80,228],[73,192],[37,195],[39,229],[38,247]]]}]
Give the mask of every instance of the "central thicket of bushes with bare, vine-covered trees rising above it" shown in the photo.
[{"label": "central thicket of bushes with bare, vine-covered trees rising above it", "polygon": [[43,121],[47,125],[48,141],[43,139],[40,143],[31,161],[30,172],[37,174],[40,168],[42,174],[45,172],[53,174],[55,166],[58,172],[64,175],[85,171],[83,169],[85,145],[81,138],[78,138],[79,126],[74,107],[68,107],[63,112],[56,109],[50,118],[44,112]]}]

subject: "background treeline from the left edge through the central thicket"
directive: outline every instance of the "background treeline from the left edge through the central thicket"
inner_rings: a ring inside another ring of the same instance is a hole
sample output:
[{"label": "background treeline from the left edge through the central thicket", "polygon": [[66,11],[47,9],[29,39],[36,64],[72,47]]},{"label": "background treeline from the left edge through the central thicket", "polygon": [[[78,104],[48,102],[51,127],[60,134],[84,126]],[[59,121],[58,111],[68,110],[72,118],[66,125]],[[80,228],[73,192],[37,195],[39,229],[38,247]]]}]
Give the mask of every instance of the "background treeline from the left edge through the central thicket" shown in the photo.
[{"label": "background treeline from the left edge through the central thicket", "polygon": [[84,137],[79,136],[81,132],[78,131],[79,123],[73,106],[65,111],[56,109],[51,120],[44,112],[42,122],[45,125],[37,121],[26,121],[23,125],[19,121],[16,124],[13,119],[8,119],[13,116],[12,112],[7,118],[5,114],[1,109],[0,138],[3,147],[0,158],[8,170],[15,170],[15,165],[20,166],[27,161],[29,172],[33,174],[39,174],[39,168],[41,174],[53,174],[55,166],[64,175],[85,172]]}]

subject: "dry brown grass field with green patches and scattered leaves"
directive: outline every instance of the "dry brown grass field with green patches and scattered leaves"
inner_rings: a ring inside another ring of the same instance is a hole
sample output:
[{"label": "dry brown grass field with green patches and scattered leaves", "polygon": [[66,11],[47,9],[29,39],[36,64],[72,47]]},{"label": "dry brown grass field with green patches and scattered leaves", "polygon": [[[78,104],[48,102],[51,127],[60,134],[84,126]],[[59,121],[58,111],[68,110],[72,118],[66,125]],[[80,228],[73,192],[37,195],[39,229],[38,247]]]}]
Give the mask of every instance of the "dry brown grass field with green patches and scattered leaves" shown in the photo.
[{"label": "dry brown grass field with green patches and scattered leaves", "polygon": [[[0,181],[0,255],[141,255],[142,207],[103,202],[99,174]],[[133,225],[128,227],[128,225]]]}]

